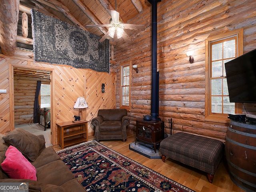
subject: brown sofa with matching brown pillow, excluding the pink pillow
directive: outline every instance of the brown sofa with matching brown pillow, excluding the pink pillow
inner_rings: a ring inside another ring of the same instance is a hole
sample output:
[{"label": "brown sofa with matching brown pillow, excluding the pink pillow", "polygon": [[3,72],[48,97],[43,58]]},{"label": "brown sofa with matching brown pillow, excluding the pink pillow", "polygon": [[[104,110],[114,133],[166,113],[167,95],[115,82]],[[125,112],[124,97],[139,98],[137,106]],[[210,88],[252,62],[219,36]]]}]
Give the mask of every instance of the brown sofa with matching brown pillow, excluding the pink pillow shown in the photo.
[{"label": "brown sofa with matching brown pillow, excluding the pink pillow", "polygon": [[0,134],[0,164],[6,150],[16,147],[36,168],[37,180],[10,178],[0,168],[0,182],[28,182],[31,192],[85,192],[72,172],[60,160],[52,147],[45,147],[44,136],[35,136],[25,130],[15,129],[4,136]]}]

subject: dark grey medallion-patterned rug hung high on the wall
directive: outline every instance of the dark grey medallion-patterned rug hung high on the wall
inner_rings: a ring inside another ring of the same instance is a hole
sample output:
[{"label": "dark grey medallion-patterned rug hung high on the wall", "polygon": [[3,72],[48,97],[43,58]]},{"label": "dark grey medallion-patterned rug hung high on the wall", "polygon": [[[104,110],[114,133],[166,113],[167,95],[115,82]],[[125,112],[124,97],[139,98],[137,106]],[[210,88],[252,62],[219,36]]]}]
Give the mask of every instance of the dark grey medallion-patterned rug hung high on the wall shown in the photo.
[{"label": "dark grey medallion-patterned rug hung high on the wall", "polygon": [[109,72],[109,40],[31,10],[34,60]]}]

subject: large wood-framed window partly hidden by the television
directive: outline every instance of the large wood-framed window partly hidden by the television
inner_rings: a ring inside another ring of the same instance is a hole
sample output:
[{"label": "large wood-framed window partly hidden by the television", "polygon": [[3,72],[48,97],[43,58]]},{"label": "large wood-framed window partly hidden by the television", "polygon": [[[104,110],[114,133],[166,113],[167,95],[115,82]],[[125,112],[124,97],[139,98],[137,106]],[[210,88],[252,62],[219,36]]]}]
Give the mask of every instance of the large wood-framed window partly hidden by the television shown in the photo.
[{"label": "large wood-framed window partly hidden by the television", "polygon": [[228,123],[228,114],[242,113],[241,104],[229,102],[225,63],[242,55],[243,30],[206,39],[205,120]]}]

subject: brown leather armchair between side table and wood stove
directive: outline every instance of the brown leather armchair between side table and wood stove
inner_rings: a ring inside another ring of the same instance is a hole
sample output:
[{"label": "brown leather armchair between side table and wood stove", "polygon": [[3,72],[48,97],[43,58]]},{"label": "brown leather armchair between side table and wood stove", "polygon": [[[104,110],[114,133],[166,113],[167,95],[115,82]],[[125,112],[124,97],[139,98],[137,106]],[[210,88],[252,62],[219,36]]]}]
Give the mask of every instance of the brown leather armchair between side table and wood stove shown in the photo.
[{"label": "brown leather armchair between side table and wood stove", "polygon": [[126,126],[130,124],[130,119],[126,109],[100,109],[92,124],[95,126],[95,140],[122,139],[125,142]]}]

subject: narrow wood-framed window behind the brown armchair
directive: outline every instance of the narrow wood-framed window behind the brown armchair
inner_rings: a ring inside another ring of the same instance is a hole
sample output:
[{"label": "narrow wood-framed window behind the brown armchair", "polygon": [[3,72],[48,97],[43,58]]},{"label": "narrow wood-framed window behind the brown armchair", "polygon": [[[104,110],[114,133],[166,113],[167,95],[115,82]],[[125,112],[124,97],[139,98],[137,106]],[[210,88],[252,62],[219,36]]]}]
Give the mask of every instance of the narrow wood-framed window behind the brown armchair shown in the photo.
[{"label": "narrow wood-framed window behind the brown armchair", "polygon": [[120,66],[121,77],[121,90],[120,90],[120,108],[126,108],[130,110],[130,74],[131,74],[131,62]]}]

